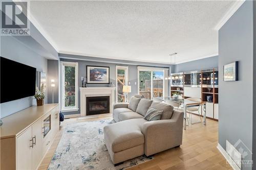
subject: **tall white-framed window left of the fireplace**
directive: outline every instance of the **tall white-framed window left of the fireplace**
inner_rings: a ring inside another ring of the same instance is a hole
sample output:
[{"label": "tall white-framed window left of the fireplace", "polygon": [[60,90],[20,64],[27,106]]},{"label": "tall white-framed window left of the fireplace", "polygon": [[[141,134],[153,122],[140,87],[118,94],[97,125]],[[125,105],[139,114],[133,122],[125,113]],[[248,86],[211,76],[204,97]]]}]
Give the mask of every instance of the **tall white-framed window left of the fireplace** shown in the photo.
[{"label": "tall white-framed window left of the fireplace", "polygon": [[78,110],[78,63],[61,62],[61,111]]}]

